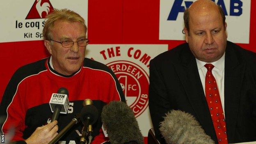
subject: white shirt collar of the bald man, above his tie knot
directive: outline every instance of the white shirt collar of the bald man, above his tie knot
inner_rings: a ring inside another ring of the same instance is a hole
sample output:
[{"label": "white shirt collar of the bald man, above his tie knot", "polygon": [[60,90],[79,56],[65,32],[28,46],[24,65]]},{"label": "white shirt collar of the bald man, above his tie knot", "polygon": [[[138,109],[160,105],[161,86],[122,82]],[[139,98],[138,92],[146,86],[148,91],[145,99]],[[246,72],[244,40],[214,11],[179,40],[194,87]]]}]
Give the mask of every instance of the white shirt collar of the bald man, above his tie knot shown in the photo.
[{"label": "white shirt collar of the bald man, above his tie knot", "polygon": [[200,61],[199,59],[196,58],[196,62],[197,62],[197,69],[201,69],[205,64],[213,64],[214,67],[216,67],[217,69],[219,69],[220,71],[224,71],[225,68],[225,53],[222,55],[222,57],[220,59],[218,59],[215,62],[211,62],[211,63],[207,63],[207,62],[203,62]]}]

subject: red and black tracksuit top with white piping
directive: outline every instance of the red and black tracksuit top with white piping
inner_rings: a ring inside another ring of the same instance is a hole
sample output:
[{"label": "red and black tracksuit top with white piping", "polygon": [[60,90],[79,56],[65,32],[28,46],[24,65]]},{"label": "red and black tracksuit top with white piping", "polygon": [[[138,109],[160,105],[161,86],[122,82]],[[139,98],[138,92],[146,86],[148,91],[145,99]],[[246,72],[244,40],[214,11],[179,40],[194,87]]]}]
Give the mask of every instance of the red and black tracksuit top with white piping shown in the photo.
[{"label": "red and black tracksuit top with white piping", "polygon": [[[123,91],[114,73],[104,64],[85,58],[81,69],[73,75],[62,75],[53,70],[49,58],[19,68],[12,76],[0,105],[0,115],[6,116],[2,132],[15,128],[14,141],[23,141],[34,130],[47,124],[52,117],[49,101],[60,87],[69,91],[69,112],[60,114],[59,130],[62,130],[82,109],[82,102],[89,98],[98,109],[98,120],[93,125],[94,141],[101,144],[108,139],[101,130],[101,110],[110,101],[125,101]],[[82,123],[77,123],[60,141],[79,142]]]}]

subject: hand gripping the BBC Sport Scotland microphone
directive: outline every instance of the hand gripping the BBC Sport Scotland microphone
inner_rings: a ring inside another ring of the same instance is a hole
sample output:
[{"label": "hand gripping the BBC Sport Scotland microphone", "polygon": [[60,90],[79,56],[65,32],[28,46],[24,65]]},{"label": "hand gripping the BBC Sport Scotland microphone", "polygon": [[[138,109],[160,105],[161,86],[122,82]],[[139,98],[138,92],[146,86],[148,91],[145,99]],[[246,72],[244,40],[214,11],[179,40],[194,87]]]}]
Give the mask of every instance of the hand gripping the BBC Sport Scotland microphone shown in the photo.
[{"label": "hand gripping the BBC Sport Scotland microphone", "polygon": [[27,144],[48,144],[58,134],[57,121],[38,127],[32,135],[25,140]]}]

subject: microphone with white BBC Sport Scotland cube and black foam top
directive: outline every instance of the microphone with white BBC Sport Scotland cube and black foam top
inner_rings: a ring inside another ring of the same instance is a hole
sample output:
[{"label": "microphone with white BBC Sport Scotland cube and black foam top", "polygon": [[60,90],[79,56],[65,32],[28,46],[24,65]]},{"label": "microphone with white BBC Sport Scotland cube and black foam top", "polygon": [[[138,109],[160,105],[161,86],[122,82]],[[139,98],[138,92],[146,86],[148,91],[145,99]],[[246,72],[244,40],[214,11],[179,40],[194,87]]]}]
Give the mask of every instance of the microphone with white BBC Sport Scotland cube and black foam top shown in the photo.
[{"label": "microphone with white BBC Sport Scotland cube and black foam top", "polygon": [[61,87],[56,93],[52,94],[50,98],[50,109],[53,112],[53,116],[51,121],[58,120],[59,113],[66,114],[69,109],[69,99],[68,99],[69,92],[66,88]]}]

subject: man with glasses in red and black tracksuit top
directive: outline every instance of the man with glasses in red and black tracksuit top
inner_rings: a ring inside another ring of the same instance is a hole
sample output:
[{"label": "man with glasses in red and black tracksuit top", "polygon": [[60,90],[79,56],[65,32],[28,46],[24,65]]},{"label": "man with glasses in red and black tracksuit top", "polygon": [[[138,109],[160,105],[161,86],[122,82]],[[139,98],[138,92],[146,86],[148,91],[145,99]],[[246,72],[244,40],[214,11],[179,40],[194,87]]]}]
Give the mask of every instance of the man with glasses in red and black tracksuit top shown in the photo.
[{"label": "man with glasses in red and black tracksuit top", "polygon": [[[85,20],[68,9],[53,11],[43,28],[44,45],[50,57],[18,69],[5,90],[0,115],[6,116],[2,132],[15,129],[13,141],[27,144],[48,144],[82,109],[89,98],[101,112],[110,101],[125,101],[114,73],[104,64],[85,58],[89,43]],[[69,110],[51,121],[49,100],[60,87],[69,92]],[[59,143],[78,143],[82,130],[78,123]],[[101,130],[101,119],[92,126],[94,141],[107,141]]]}]

